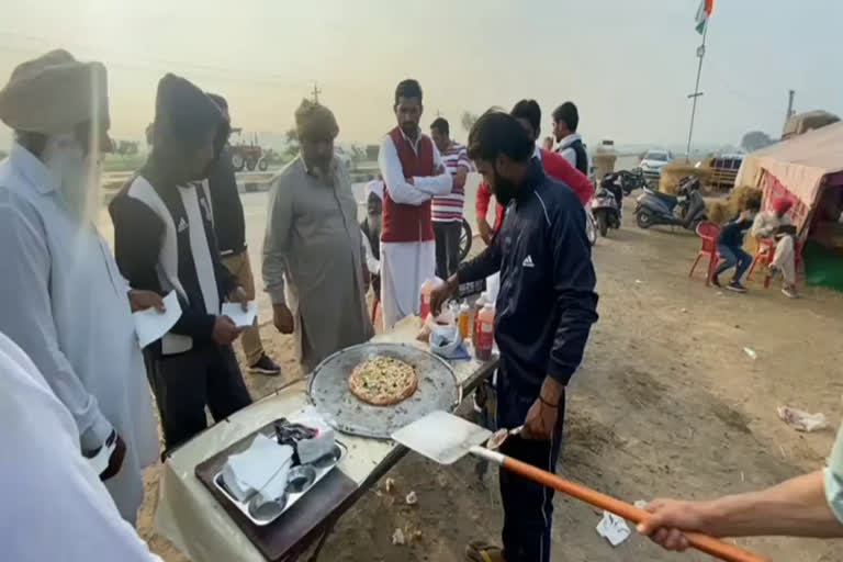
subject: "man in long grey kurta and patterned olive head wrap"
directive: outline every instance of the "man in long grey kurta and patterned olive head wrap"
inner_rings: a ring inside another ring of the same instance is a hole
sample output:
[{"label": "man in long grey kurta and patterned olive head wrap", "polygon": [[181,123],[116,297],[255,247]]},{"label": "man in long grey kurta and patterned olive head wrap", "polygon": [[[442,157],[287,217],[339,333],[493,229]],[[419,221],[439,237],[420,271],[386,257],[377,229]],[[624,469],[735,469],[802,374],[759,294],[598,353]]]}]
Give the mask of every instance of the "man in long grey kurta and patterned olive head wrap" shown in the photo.
[{"label": "man in long grey kurta and patterned olive head wrap", "polygon": [[346,167],[334,158],[339,128],[325,106],[295,113],[301,154],[270,188],[263,281],[276,327],[295,333],[304,373],[372,337],[362,235]]}]

